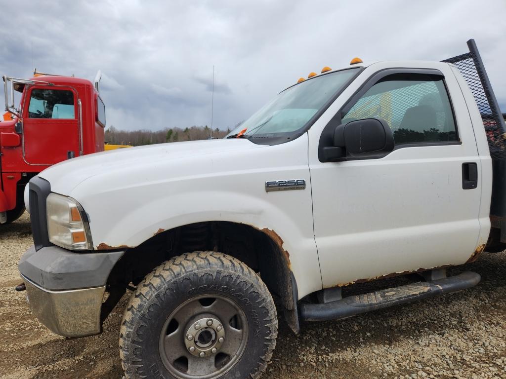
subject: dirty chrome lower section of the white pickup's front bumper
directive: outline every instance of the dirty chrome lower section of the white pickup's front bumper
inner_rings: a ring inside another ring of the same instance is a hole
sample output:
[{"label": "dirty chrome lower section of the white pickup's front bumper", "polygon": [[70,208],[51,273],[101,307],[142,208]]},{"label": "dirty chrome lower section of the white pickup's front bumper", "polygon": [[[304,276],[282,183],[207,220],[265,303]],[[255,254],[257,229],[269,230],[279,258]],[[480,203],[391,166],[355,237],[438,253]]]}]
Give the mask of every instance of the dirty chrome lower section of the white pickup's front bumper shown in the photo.
[{"label": "dirty chrome lower section of the white pickup's front bumper", "polygon": [[52,291],[21,276],[32,312],[51,331],[64,337],[85,337],[100,333],[100,311],[105,286]]}]

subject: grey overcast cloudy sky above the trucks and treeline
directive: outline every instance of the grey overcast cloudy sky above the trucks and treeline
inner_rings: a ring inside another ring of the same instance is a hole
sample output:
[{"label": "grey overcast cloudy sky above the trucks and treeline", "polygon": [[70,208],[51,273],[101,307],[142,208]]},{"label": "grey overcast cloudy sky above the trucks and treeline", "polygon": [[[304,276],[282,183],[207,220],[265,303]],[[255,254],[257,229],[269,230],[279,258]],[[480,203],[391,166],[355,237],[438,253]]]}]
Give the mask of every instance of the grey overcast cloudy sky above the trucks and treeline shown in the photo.
[{"label": "grey overcast cloudy sky above the trucks and treeline", "polygon": [[214,65],[213,126],[227,129],[323,66],[439,61],[469,38],[506,112],[505,0],[17,0],[0,20],[0,74],[101,69],[108,126],[157,130],[210,125]]}]

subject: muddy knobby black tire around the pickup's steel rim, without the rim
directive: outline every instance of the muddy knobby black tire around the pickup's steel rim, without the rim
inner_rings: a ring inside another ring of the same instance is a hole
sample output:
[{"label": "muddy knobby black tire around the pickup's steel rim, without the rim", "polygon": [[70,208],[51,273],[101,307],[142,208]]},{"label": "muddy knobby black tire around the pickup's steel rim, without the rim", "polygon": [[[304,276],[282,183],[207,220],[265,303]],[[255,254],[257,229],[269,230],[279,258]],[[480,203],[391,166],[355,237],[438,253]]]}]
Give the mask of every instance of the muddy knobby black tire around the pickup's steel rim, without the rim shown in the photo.
[{"label": "muddy knobby black tire around the pickup's steel rim, without the rim", "polygon": [[267,368],[277,337],[276,308],[262,279],[222,253],[186,253],[156,267],[138,285],[121,322],[119,354],[126,378],[174,378],[162,362],[159,335],[171,312],[194,295],[232,299],[246,315],[244,352],[220,378],[257,378]]}]

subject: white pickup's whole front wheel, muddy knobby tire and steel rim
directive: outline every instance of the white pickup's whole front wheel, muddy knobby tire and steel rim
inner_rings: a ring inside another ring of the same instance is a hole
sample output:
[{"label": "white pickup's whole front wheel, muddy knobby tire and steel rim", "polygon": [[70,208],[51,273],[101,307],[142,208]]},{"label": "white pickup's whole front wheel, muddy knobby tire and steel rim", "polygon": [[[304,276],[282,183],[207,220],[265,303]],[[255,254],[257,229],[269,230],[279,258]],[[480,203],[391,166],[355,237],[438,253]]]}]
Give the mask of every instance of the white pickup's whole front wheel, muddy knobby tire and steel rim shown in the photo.
[{"label": "white pickup's whole front wheel, muddy knobby tire and steel rim", "polygon": [[121,324],[120,356],[128,379],[259,377],[276,336],[262,279],[228,255],[194,252],[139,284]]}]

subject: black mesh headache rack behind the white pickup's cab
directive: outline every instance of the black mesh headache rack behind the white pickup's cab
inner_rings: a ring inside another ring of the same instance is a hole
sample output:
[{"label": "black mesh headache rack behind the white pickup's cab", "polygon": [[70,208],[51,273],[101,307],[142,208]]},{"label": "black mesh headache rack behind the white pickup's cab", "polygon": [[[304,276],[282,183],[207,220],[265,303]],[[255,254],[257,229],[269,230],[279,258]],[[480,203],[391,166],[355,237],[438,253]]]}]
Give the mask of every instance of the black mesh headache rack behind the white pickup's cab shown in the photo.
[{"label": "black mesh headache rack behind the white pickup's cab", "polygon": [[469,53],[443,62],[455,65],[466,79],[483,119],[492,158],[490,220],[500,231],[500,242],[506,243],[506,125],[474,39],[468,41],[468,47]]}]

